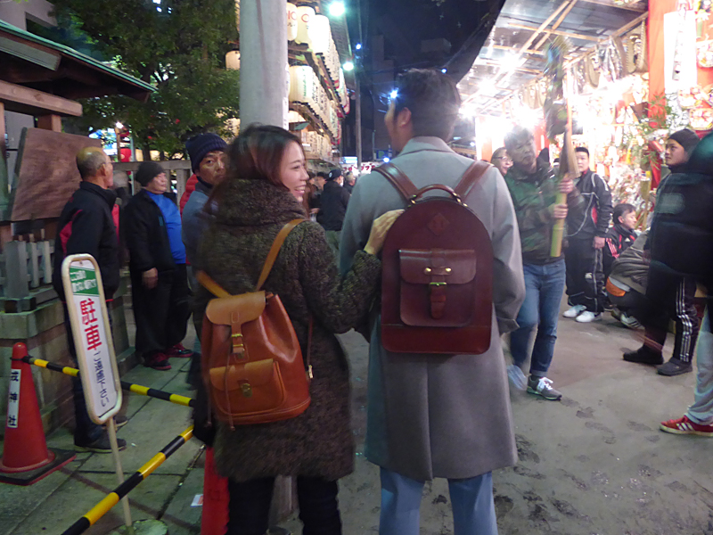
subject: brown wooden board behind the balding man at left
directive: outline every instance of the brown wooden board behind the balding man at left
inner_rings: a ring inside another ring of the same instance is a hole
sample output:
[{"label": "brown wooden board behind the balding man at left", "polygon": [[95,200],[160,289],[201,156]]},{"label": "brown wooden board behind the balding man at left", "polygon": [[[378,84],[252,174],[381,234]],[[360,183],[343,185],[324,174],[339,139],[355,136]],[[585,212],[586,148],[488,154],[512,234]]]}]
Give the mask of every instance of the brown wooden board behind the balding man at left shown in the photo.
[{"label": "brown wooden board behind the balding man at left", "polygon": [[10,199],[11,221],[59,218],[79,187],[76,156],[102,142],[41,128],[23,128]]}]

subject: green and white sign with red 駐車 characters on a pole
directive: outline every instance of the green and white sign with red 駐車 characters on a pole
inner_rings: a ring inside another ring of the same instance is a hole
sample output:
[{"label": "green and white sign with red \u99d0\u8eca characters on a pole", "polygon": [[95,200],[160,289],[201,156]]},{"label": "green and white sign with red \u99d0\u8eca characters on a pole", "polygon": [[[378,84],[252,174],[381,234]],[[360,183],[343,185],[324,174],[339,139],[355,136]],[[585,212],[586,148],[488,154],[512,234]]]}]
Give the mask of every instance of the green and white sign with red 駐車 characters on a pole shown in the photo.
[{"label": "green and white sign with red \u99d0\u8eca characters on a pole", "polygon": [[121,387],[102,274],[88,254],[64,259],[61,273],[87,412],[103,424],[121,407]]}]

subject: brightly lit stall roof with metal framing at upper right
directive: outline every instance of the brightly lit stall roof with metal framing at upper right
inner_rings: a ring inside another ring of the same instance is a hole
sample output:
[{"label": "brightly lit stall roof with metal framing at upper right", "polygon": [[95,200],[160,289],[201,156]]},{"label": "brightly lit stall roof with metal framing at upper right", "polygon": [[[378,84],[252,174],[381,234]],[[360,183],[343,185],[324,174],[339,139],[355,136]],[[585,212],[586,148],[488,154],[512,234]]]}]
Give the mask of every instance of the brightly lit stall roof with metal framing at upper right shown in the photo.
[{"label": "brightly lit stall roof with metal framing at upper right", "polygon": [[566,37],[569,57],[594,50],[645,20],[646,0],[507,0],[471,70],[459,83],[470,114],[499,114],[497,103],[545,69],[545,49]]}]

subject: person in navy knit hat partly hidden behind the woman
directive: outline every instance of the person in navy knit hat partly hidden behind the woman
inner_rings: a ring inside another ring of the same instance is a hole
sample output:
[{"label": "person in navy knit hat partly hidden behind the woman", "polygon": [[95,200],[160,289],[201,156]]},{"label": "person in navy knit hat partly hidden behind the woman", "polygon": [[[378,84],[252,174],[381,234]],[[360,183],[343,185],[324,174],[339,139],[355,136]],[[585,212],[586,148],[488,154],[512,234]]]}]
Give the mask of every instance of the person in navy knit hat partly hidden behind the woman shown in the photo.
[{"label": "person in navy knit hat partly hidden behind the woman", "polygon": [[[191,158],[191,168],[197,182],[195,189],[188,197],[183,210],[183,241],[185,256],[189,264],[188,282],[193,291],[198,289],[194,268],[200,263],[198,258],[199,244],[203,233],[209,226],[209,218],[204,207],[208,202],[213,186],[225,178],[225,149],[227,144],[216,134],[201,134],[193,137],[185,144],[185,150]],[[196,338],[193,343],[191,367],[186,376],[186,382],[197,387],[201,381],[201,315],[193,314]]]}]

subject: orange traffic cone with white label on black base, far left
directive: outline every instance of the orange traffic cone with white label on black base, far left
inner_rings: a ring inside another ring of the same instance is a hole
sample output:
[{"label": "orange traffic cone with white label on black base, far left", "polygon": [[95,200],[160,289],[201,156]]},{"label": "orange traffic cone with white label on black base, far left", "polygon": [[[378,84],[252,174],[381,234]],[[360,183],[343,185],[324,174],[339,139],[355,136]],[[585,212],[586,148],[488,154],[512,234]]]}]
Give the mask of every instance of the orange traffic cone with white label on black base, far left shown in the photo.
[{"label": "orange traffic cone with white label on black base, far left", "polygon": [[13,485],[31,485],[77,457],[71,451],[47,449],[32,366],[22,361],[27,354],[24,343],[12,347],[0,481]]}]

